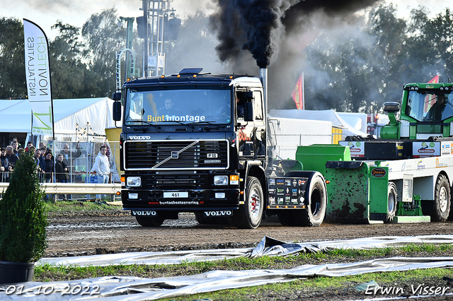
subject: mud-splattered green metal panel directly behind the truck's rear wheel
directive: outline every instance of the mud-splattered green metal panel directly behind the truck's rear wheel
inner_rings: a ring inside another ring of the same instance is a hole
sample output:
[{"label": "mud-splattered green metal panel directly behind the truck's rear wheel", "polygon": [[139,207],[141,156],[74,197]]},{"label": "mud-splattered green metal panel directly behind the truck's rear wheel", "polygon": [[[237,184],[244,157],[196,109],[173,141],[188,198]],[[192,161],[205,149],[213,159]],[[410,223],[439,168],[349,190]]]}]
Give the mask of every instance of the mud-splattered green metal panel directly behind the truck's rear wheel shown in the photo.
[{"label": "mud-splattered green metal panel directly behind the truck's rear wheel", "polygon": [[326,163],[326,219],[336,223],[382,223],[387,218],[388,167],[362,161]]}]

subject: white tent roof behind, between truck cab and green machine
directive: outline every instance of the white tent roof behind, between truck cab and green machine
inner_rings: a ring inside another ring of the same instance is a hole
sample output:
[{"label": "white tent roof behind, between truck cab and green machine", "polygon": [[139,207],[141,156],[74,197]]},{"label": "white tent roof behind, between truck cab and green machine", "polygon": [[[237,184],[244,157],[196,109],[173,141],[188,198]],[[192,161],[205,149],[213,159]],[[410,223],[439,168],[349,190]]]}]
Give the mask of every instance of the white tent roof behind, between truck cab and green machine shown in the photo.
[{"label": "white tent roof behind, between truck cab and green machine", "polygon": [[[356,113],[359,114],[359,113]],[[343,129],[343,139],[346,136],[367,136],[366,131],[361,131],[363,129],[363,116],[359,114],[356,118],[352,116],[351,113],[343,114],[343,116],[348,119],[354,126],[348,124],[340,115],[334,110],[320,110],[320,111],[312,111],[312,110],[270,110],[269,115],[272,117],[280,117],[280,118],[294,118],[294,119],[308,119],[308,120],[322,120],[326,122],[332,122],[334,126],[342,126]],[[366,116],[366,114],[365,114]],[[360,119],[360,120],[359,120]],[[366,120],[365,119],[365,129],[366,129]],[[355,126],[359,127],[360,129],[356,129]],[[343,140],[342,139],[342,140]]]}]

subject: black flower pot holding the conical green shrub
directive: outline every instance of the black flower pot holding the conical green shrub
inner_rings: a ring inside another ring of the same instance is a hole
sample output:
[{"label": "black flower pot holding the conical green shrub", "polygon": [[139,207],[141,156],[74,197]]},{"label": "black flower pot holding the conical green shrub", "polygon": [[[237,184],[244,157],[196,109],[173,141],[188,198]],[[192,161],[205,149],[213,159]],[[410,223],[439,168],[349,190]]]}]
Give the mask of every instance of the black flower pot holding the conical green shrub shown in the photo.
[{"label": "black flower pot holding the conical green shrub", "polygon": [[0,285],[31,281],[35,263],[0,261]]}]

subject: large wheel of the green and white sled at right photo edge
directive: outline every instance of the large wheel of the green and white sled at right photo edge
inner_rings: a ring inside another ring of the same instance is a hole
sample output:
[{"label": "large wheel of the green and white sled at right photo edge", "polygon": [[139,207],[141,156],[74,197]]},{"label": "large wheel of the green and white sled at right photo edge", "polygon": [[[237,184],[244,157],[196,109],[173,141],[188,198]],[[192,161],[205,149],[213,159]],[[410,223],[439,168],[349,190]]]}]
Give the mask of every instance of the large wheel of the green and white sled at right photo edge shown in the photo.
[{"label": "large wheel of the green and white sled at right photo edge", "polygon": [[445,175],[437,176],[434,191],[434,202],[432,203],[431,221],[445,222],[450,214],[451,204],[450,185]]}]

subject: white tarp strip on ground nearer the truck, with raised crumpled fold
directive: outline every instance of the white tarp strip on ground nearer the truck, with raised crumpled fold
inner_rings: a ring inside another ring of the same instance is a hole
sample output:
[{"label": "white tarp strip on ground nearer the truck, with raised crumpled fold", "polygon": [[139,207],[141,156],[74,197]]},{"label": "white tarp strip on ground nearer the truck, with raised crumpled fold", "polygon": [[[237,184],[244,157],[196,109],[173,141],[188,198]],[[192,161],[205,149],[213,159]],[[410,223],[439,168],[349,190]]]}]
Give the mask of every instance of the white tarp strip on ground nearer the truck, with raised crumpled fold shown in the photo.
[{"label": "white tarp strip on ground nearer the truck, with raised crumpled fold", "polygon": [[315,253],[329,249],[376,249],[406,244],[453,244],[453,235],[382,236],[354,240],[321,242],[281,242],[264,237],[255,248],[188,250],[173,252],[130,252],[74,257],[50,257],[38,261],[55,266],[108,266],[118,264],[180,264],[188,261],[214,261],[249,256],[285,256],[295,253]]}]

